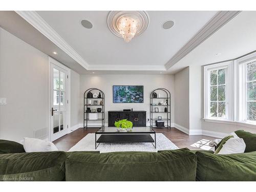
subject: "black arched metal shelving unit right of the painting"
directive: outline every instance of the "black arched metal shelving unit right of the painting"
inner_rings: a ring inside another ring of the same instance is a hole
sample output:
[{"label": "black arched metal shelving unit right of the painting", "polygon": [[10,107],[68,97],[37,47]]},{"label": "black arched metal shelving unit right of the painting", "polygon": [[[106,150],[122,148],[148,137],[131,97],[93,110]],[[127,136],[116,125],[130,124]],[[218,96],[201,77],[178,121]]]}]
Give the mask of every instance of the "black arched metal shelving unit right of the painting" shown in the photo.
[{"label": "black arched metal shelving unit right of the painting", "polygon": [[[166,102],[166,104],[161,103],[161,101]],[[159,102],[161,103],[161,105],[159,105]],[[157,108],[158,110],[155,110],[155,108]],[[164,108],[167,108],[167,110],[164,110]],[[162,127],[170,129],[170,92],[164,88],[155,89],[150,94],[150,126],[152,128],[161,127],[156,126],[155,123],[156,120],[159,120],[159,116],[161,116],[161,120],[164,121],[164,126]]]}]

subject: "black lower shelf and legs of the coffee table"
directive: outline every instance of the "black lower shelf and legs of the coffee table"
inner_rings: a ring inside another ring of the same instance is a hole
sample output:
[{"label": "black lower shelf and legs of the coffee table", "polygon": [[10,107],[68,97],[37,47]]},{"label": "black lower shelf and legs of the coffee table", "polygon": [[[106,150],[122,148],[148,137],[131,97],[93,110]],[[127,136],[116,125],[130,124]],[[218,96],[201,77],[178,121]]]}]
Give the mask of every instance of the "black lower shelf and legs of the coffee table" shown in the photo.
[{"label": "black lower shelf and legs of the coffee table", "polygon": [[[136,134],[136,135],[120,135],[120,134],[114,134],[114,135],[101,135],[96,140],[96,134],[95,134],[95,149],[99,146],[100,143],[155,143],[153,146],[156,148],[156,135],[155,140],[152,138],[150,134]],[[96,145],[96,143],[99,143]]]}]

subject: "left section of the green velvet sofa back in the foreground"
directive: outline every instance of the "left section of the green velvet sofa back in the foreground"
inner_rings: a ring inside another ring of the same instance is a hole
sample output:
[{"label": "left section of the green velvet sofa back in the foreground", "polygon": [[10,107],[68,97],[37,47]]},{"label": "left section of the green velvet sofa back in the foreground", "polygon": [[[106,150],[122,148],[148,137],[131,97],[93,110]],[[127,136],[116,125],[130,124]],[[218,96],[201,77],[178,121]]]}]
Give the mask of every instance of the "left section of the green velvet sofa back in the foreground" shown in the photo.
[{"label": "left section of the green velvet sofa back in the foreground", "polygon": [[65,180],[65,152],[35,152],[0,155],[1,181]]}]

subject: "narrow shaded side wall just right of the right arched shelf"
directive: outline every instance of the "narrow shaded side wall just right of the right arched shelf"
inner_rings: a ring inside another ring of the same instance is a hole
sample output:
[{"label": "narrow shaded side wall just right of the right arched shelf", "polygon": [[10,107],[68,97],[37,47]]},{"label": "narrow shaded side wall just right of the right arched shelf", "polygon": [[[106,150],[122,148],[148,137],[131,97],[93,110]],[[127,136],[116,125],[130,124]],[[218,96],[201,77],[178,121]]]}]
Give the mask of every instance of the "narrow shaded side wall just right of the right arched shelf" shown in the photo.
[{"label": "narrow shaded side wall just right of the right arched shelf", "polygon": [[175,124],[189,129],[189,67],[178,72],[175,79]]}]

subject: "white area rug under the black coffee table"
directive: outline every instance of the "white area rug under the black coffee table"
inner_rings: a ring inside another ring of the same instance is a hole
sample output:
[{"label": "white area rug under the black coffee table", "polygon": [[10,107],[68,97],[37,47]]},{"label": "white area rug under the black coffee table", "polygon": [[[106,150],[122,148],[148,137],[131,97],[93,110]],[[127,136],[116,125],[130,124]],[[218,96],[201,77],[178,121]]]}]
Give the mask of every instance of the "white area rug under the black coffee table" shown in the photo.
[{"label": "white area rug under the black coffee table", "polygon": [[[154,134],[152,135],[152,137]],[[154,138],[154,137],[153,137]],[[177,150],[178,147],[161,133],[156,134],[157,148],[152,143],[100,143],[95,150],[95,134],[89,133],[76,143],[69,152],[74,151],[100,151],[107,152],[157,152],[159,150]],[[98,143],[97,143],[98,144]]]}]

